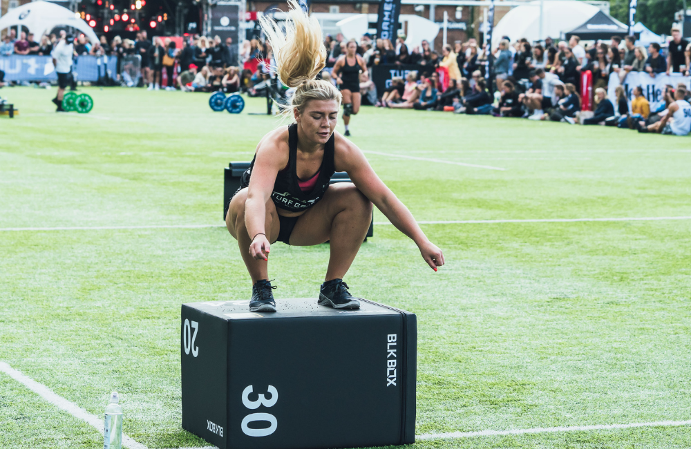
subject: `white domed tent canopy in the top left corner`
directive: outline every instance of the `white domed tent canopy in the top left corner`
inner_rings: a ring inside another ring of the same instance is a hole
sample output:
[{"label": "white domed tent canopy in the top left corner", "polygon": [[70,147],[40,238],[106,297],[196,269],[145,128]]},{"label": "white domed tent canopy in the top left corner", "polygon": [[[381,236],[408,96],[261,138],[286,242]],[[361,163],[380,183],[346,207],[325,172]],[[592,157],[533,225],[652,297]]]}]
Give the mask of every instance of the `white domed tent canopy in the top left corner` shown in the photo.
[{"label": "white domed tent canopy in the top left corner", "polygon": [[71,26],[84,33],[88,40],[97,42],[98,37],[91,26],[82,19],[77,19],[75,13],[48,1],[32,1],[10,10],[0,17],[0,30],[12,26],[26,26],[34,33],[36,39],[56,26]]}]

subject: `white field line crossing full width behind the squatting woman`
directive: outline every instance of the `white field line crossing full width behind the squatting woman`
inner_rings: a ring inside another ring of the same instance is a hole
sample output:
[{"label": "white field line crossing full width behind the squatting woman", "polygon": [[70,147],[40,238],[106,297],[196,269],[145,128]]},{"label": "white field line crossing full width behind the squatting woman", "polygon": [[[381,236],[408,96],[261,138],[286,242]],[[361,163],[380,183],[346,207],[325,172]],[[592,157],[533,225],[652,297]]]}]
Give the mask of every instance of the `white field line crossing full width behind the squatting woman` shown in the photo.
[{"label": "white field line crossing full width behind the squatting woman", "polygon": [[[421,220],[419,225],[493,225],[497,223],[573,223],[573,222],[621,222],[621,221],[665,221],[691,220],[689,217],[615,217],[615,218],[534,218],[526,220]],[[390,225],[388,221],[378,221],[375,225]],[[141,225],[141,226],[74,226],[74,227],[27,227],[0,228],[9,231],[102,231],[108,229],[203,229],[223,228],[225,225]]]}]

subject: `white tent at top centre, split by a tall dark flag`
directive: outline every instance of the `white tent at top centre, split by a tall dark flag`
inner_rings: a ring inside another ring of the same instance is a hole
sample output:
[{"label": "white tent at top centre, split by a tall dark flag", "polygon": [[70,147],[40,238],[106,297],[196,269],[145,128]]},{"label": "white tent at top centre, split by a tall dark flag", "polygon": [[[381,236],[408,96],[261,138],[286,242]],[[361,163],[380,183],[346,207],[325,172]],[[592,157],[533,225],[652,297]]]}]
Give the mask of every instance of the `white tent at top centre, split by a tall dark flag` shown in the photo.
[{"label": "white tent at top centre, split by a tall dark flag", "polygon": [[[360,39],[362,35],[368,32],[369,23],[376,21],[376,14],[356,14],[337,22],[336,25],[341,28],[341,33],[345,39]],[[433,42],[439,34],[439,25],[424,17],[401,14],[399,15],[399,22],[403,24],[401,30],[406,30],[407,25],[406,45],[410,50],[421,46],[422,41]]]}]

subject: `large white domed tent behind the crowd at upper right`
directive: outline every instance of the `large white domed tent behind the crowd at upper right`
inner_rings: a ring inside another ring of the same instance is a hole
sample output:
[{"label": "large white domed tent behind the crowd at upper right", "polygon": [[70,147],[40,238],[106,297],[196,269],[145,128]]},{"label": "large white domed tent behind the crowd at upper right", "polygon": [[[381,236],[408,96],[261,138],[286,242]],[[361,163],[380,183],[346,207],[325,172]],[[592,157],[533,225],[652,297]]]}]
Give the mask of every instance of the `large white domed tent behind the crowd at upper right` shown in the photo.
[{"label": "large white domed tent behind the crowd at upper right", "polygon": [[[540,27],[540,3],[542,3],[542,27]],[[497,23],[492,32],[492,48],[497,48],[503,36],[511,41],[522,37],[528,41],[542,41],[545,37],[558,39],[562,32],[569,32],[583,25],[600,9],[576,0],[537,0],[513,8]],[[540,35],[542,28],[542,35]]]}]

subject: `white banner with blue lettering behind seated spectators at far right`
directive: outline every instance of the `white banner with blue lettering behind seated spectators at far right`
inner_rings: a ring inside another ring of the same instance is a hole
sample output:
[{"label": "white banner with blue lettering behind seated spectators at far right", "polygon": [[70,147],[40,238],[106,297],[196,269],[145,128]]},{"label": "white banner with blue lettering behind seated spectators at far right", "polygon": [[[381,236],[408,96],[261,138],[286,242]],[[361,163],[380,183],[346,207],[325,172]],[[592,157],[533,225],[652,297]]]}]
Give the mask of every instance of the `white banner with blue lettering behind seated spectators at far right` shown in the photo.
[{"label": "white banner with blue lettering behind seated spectators at far right", "polygon": [[629,100],[629,108],[631,108],[631,100],[634,98],[634,87],[641,86],[643,88],[643,97],[650,103],[650,111],[655,111],[665,104],[665,86],[669,85],[676,89],[676,85],[679,83],[685,84],[686,88],[691,88],[691,77],[685,77],[681,73],[672,73],[672,75],[665,75],[663,73],[653,78],[645,72],[629,72],[624,82],[620,84],[618,73],[612,73],[612,75],[609,75],[607,98],[612,101],[616,108],[615,90],[621,85]]}]

